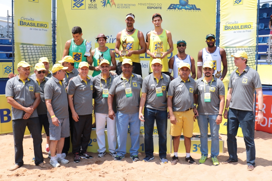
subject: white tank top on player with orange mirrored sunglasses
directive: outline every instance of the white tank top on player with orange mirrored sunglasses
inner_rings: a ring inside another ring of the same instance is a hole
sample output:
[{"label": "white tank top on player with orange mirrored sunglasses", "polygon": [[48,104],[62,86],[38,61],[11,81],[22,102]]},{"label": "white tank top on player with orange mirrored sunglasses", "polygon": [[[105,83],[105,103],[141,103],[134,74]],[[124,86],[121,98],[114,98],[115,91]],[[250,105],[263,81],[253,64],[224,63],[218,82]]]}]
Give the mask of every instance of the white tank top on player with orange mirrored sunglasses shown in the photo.
[{"label": "white tank top on player with orange mirrored sunglasses", "polygon": [[[217,71],[220,72],[220,75],[222,75],[221,72],[221,55],[219,52],[219,47],[216,47],[215,51],[213,53],[208,53],[206,48],[202,49],[202,60],[203,60],[203,64],[206,61],[212,61],[213,62],[213,68],[214,68],[214,73],[213,75],[215,75],[217,73]],[[221,76],[220,76],[221,77]]]}]

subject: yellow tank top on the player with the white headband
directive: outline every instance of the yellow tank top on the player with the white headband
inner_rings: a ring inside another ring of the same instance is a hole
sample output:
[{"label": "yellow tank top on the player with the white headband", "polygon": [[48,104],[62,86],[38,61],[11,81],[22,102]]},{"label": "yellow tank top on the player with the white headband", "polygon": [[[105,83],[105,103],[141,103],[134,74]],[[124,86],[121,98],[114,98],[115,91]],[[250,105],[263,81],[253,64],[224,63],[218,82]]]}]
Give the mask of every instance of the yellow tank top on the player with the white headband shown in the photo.
[{"label": "yellow tank top on the player with the white headband", "polygon": [[[138,39],[138,30],[135,29],[134,33],[131,35],[127,35],[125,33],[125,30],[122,30],[120,42],[122,44],[122,41],[127,39],[127,50],[139,50],[140,49],[140,43]],[[120,50],[122,50],[122,45],[120,46]],[[119,62],[123,62],[123,59],[131,59],[132,62],[140,63],[140,55],[139,54],[132,54],[130,57],[123,56],[119,57]]]}]

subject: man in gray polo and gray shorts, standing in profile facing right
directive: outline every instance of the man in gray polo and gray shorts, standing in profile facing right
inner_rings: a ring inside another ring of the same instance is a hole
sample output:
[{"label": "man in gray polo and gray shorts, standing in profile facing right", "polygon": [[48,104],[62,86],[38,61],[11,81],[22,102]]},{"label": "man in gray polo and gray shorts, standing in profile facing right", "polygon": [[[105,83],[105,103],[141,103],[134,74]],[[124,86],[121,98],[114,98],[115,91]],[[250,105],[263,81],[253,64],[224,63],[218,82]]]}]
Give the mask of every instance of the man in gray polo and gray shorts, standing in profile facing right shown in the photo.
[{"label": "man in gray polo and gray shorts, standing in profile facing right", "polygon": [[[67,91],[62,81],[66,69],[67,67],[60,64],[53,65],[53,76],[44,85],[44,98],[50,124],[50,164],[53,167],[60,167],[58,162],[62,164],[69,163],[68,160],[61,156],[64,139],[70,136]],[[57,157],[55,156],[56,149]]]}]

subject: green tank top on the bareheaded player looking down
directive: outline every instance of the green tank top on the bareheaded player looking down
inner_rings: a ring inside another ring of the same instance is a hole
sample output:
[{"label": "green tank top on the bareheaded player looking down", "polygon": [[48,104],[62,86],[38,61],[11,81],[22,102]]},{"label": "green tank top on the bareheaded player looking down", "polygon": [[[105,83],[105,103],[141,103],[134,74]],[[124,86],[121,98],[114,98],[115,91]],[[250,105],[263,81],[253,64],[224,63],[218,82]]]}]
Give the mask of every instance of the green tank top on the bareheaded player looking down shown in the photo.
[{"label": "green tank top on the bareheaded player looking down", "polygon": [[86,52],[86,40],[84,39],[81,45],[76,45],[74,42],[74,39],[71,39],[71,45],[69,48],[69,55],[73,57],[74,59],[74,67],[78,68],[79,62],[87,62],[86,57],[84,57],[84,54]]}]

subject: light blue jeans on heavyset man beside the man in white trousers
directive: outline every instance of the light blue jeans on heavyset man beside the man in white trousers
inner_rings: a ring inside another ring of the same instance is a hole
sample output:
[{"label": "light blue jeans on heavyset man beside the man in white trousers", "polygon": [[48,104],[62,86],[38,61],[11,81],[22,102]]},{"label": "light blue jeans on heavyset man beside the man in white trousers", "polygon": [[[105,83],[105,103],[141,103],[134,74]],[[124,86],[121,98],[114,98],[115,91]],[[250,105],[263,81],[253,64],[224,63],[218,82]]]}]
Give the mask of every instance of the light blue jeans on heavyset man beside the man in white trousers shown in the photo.
[{"label": "light blue jeans on heavyset man beside the man in white trousers", "polygon": [[138,155],[140,148],[140,124],[139,113],[123,114],[117,111],[116,113],[116,128],[117,128],[117,155],[124,157],[127,145],[128,126],[131,138],[130,155]]}]

